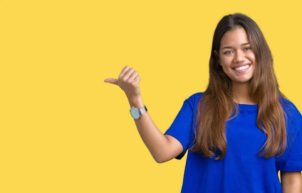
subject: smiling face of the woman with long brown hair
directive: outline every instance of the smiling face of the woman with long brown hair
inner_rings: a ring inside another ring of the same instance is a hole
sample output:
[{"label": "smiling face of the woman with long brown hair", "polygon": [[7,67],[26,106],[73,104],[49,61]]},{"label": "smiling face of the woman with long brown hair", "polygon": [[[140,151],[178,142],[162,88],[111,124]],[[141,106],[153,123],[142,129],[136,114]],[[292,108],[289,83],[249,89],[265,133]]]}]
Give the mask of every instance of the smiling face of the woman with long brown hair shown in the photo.
[{"label": "smiling face of the woman with long brown hair", "polygon": [[245,83],[253,77],[255,54],[244,28],[235,28],[222,36],[218,61],[234,83]]}]

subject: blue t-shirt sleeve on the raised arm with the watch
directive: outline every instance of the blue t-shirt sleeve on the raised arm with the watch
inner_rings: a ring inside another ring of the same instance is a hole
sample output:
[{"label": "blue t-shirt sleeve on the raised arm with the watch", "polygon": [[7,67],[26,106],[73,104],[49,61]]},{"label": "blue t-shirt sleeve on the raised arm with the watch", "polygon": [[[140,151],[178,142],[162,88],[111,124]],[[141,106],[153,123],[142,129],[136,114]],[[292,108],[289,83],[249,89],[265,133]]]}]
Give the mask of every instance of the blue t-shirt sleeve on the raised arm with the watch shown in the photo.
[{"label": "blue t-shirt sleeve on the raised arm with the watch", "polygon": [[192,100],[186,99],[176,115],[171,126],[165,132],[165,135],[170,135],[177,139],[183,146],[183,152],[176,157],[180,160],[186,153],[189,147],[189,140],[191,135],[191,126],[193,120],[194,103]]}]

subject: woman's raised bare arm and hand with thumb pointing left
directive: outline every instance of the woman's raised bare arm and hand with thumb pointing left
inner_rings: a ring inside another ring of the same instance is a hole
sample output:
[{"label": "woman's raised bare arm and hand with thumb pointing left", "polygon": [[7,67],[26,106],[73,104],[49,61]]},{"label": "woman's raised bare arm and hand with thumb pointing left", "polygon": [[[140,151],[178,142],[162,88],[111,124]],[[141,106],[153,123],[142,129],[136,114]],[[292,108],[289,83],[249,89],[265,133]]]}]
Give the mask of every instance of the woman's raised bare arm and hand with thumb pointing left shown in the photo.
[{"label": "woman's raised bare arm and hand with thumb pointing left", "polygon": [[[124,67],[118,79],[106,79],[104,82],[119,86],[126,94],[130,107],[144,106],[140,97],[138,83],[140,77],[134,69]],[[154,123],[149,113],[144,113],[139,119],[134,119],[138,133],[156,162],[167,162],[183,151],[182,144],[172,136],[164,135]]]}]

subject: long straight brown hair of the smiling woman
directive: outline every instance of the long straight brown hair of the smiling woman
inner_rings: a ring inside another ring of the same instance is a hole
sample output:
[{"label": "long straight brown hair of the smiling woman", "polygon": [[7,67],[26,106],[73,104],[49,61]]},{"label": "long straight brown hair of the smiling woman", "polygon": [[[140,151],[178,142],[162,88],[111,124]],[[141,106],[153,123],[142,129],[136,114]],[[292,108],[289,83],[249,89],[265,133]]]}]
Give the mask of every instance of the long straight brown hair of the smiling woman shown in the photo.
[{"label": "long straight brown hair of the smiling woman", "polygon": [[201,152],[205,157],[213,157],[219,151],[216,160],[222,159],[226,154],[225,125],[238,114],[238,104],[234,102],[235,96],[231,92],[231,79],[219,66],[218,58],[222,36],[236,27],[246,30],[256,56],[249,95],[258,104],[257,126],[267,136],[259,156],[280,156],[286,148],[287,137],[286,115],[280,99],[285,96],[279,90],[272,54],[260,28],[251,18],[239,13],[224,16],[215,29],[209,60],[209,83],[199,101],[195,124],[197,129],[194,130],[195,143],[190,150]]}]

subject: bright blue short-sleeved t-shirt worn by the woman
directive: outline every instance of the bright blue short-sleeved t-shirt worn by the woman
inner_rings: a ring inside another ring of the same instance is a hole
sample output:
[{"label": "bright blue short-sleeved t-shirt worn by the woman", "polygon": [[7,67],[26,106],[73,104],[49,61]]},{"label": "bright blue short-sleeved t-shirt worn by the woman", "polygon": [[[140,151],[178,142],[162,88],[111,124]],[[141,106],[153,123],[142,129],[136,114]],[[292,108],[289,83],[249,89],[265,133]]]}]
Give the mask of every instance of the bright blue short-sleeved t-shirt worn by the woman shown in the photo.
[{"label": "bright blue short-sleeved t-shirt worn by the woman", "polygon": [[240,113],[228,121],[226,140],[228,149],[222,160],[205,158],[193,153],[194,117],[203,93],[188,97],[165,134],[176,138],[183,146],[181,159],[188,151],[183,176],[182,193],[240,193],[282,192],[278,171],[302,170],[302,116],[290,104],[287,122],[288,146],[280,157],[258,157],[266,136],[256,125],[258,106],[238,104]]}]

